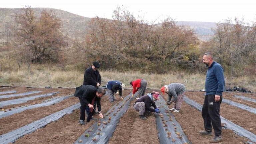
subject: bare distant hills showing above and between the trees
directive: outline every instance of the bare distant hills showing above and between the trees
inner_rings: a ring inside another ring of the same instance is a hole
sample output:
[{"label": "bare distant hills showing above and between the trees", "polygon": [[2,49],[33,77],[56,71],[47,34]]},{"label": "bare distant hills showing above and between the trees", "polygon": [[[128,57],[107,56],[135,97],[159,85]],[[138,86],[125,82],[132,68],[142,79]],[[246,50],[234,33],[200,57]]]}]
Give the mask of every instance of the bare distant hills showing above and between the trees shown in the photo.
[{"label": "bare distant hills showing above and between the trees", "polygon": [[[53,8],[33,8],[35,15],[38,17],[43,10],[47,12],[52,11],[55,13],[58,18],[62,20],[62,30],[64,33],[68,34],[70,38],[81,38],[86,33],[88,27],[87,22],[90,21],[90,18],[79,16],[70,12],[66,12],[59,9]],[[0,8],[0,28],[4,25],[5,22],[11,24],[15,23],[14,16],[16,13],[20,13],[21,8],[12,9],[12,8]],[[177,21],[178,25],[188,25],[193,28],[201,40],[209,40],[212,37],[213,31],[211,28],[215,28],[215,23],[211,22],[186,22],[186,21]]]}]

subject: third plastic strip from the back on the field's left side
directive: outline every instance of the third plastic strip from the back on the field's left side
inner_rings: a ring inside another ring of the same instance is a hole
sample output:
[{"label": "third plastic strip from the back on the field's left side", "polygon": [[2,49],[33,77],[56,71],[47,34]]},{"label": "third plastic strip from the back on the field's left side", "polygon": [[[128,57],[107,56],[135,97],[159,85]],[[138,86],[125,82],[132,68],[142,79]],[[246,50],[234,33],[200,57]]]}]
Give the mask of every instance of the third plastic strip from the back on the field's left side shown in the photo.
[{"label": "third plastic strip from the back on the field's left side", "polygon": [[18,98],[18,99],[13,99],[13,100],[1,101],[0,102],[0,108],[2,108],[3,106],[7,106],[7,105],[25,103],[25,102],[27,102],[29,100],[34,100],[36,98],[52,96],[52,95],[55,95],[57,93],[58,92],[52,92],[52,93],[49,93],[49,94],[36,95],[36,96],[23,97],[23,98]]}]

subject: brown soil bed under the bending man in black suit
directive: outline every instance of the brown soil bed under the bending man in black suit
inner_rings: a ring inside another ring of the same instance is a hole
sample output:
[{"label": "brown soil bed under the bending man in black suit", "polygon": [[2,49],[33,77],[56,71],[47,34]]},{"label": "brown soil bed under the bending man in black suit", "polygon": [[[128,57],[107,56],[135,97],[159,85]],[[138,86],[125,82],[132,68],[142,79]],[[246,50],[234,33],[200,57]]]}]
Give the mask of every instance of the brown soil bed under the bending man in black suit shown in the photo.
[{"label": "brown soil bed under the bending man in black suit", "polygon": [[[131,91],[124,91],[123,97],[129,95]],[[101,108],[103,115],[114,105],[120,98],[115,96],[117,101],[110,103],[108,96],[101,98]],[[77,101],[78,98],[76,98]],[[17,144],[71,144],[75,142],[87,128],[92,126],[95,121],[90,121],[86,125],[80,125],[78,123],[80,117],[80,109],[76,109],[72,114],[67,114],[60,118],[56,122],[48,124],[45,128],[38,129],[37,131],[25,135],[25,137],[20,138],[15,143]],[[98,116],[94,116],[98,118]]]}]

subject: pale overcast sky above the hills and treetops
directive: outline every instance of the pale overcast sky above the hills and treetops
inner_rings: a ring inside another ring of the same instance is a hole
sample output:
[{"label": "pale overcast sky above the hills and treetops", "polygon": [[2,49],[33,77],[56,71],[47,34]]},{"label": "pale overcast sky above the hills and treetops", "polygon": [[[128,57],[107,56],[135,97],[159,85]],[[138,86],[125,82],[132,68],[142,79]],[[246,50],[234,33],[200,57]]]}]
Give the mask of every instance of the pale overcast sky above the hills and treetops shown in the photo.
[{"label": "pale overcast sky above the hills and treetops", "polygon": [[112,18],[117,6],[125,6],[135,16],[149,22],[167,16],[176,21],[222,22],[235,17],[256,22],[256,0],[1,0],[1,8],[56,8],[85,17]]}]

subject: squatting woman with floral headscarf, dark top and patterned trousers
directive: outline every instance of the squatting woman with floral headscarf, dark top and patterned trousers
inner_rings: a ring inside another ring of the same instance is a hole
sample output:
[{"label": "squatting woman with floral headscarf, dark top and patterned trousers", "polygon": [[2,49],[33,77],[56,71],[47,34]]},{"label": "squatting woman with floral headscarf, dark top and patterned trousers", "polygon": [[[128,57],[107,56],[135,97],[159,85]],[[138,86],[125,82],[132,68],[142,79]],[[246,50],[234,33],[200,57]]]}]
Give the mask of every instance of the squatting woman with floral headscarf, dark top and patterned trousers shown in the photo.
[{"label": "squatting woman with floral headscarf, dark top and patterned trousers", "polygon": [[134,103],[133,108],[139,112],[140,118],[147,119],[144,115],[145,110],[149,112],[159,113],[160,110],[156,107],[156,100],[159,100],[159,92],[152,92],[137,99]]}]

